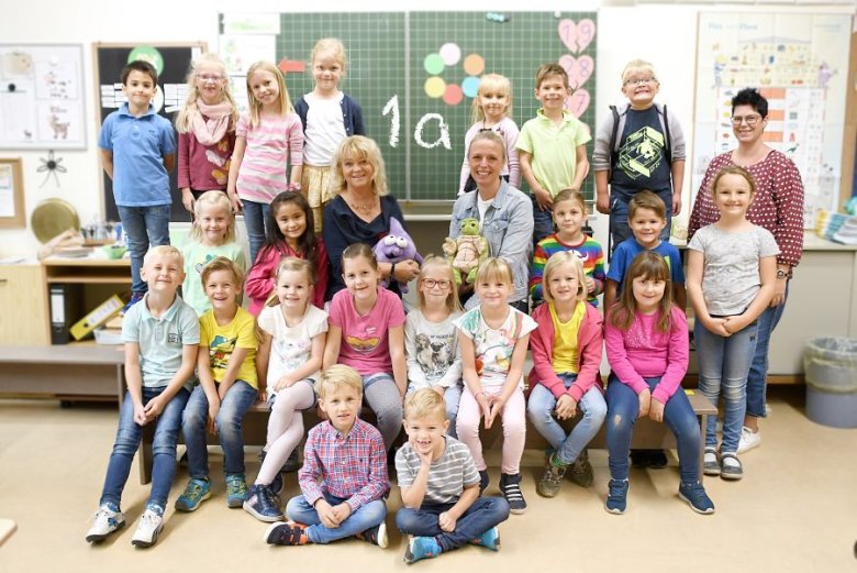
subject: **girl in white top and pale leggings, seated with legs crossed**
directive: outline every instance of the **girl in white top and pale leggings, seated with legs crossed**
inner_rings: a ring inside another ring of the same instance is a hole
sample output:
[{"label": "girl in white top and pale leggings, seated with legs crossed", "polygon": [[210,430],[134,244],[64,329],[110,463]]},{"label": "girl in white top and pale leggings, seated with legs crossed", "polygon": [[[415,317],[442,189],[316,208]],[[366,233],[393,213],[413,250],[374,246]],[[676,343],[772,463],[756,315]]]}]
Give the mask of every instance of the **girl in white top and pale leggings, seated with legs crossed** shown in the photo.
[{"label": "girl in white top and pale leggings, seated with legs crossed", "polygon": [[301,412],[315,403],[313,385],[324,355],[327,313],[312,304],[313,269],[288,256],[277,267],[277,300],[259,313],[261,342],[256,364],[271,404],[268,438],[256,482],[244,509],[263,521],[283,518],[277,494],[280,467],[303,438]]}]

